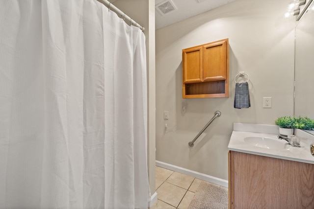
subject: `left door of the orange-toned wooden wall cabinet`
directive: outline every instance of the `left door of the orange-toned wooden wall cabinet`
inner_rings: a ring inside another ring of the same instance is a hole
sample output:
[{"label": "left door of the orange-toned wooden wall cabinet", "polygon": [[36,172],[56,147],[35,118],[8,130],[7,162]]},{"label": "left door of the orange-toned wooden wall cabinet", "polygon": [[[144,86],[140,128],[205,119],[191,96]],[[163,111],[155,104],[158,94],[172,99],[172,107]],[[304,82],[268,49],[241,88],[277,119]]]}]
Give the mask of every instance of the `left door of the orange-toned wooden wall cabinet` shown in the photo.
[{"label": "left door of the orange-toned wooden wall cabinet", "polygon": [[203,81],[203,48],[195,46],[182,50],[183,83]]}]

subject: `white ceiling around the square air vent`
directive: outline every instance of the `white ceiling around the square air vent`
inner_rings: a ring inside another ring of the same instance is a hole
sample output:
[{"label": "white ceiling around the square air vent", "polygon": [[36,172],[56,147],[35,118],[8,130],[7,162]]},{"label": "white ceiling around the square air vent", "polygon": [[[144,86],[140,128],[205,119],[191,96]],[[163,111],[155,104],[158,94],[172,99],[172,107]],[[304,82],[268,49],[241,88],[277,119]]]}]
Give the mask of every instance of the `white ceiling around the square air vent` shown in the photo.
[{"label": "white ceiling around the square air vent", "polygon": [[[155,5],[158,5],[167,0],[155,0]],[[187,18],[209,11],[216,7],[230,3],[235,0],[171,0],[177,10],[161,15],[155,9],[156,29],[165,27],[167,25],[178,23]],[[201,2],[199,2],[201,1]]]}]

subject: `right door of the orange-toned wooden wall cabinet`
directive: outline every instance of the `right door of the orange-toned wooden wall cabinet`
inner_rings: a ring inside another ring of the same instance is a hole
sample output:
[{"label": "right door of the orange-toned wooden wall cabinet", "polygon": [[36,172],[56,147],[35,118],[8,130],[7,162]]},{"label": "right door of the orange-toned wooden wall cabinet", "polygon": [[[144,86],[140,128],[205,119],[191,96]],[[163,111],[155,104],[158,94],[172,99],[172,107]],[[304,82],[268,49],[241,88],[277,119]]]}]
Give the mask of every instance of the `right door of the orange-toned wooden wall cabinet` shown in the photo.
[{"label": "right door of the orange-toned wooden wall cabinet", "polygon": [[203,80],[227,78],[227,41],[221,40],[203,46]]}]

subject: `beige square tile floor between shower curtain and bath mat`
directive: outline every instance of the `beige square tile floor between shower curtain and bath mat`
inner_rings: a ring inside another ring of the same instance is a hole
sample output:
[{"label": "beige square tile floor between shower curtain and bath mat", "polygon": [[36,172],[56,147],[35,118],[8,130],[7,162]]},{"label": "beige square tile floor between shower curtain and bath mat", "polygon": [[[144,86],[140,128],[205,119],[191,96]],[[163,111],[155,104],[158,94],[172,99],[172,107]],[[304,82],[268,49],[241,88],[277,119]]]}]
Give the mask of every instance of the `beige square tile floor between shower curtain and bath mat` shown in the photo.
[{"label": "beige square tile floor between shower curtain and bath mat", "polygon": [[203,180],[156,166],[158,200],[151,209],[187,209],[201,182]]}]

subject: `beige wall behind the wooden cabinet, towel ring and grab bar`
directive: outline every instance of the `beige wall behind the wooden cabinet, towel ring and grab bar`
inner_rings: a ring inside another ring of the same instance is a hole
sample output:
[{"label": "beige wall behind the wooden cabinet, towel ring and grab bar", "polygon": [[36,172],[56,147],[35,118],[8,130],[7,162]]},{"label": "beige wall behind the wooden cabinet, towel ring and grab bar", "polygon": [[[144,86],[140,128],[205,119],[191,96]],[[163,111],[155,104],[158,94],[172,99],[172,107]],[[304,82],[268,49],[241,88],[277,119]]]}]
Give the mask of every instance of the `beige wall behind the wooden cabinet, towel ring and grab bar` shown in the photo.
[{"label": "beige wall behind the wooden cabinet, towel ring and grab bar", "polygon": [[[236,0],[156,31],[156,160],[228,179],[233,122],[274,124],[293,115],[293,26],[281,16],[287,0]],[[293,22],[291,22],[293,24]],[[182,98],[182,49],[229,38],[229,98]],[[251,107],[235,109],[235,75],[250,76]],[[262,97],[272,108],[262,108]],[[183,102],[187,103],[185,112]],[[218,117],[190,148],[216,110]],[[169,111],[165,129],[163,112]]]}]

